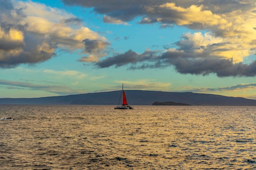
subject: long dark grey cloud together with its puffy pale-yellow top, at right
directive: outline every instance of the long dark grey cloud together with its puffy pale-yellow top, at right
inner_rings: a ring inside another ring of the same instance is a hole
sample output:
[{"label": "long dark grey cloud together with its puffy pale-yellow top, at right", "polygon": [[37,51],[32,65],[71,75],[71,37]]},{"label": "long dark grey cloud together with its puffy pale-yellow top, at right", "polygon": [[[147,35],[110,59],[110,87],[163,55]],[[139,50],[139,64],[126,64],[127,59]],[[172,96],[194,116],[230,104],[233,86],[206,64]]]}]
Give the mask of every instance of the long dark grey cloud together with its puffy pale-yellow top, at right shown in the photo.
[{"label": "long dark grey cloud together with its puffy pale-yellow top, at right", "polygon": [[[173,66],[181,74],[225,76],[255,76],[256,61],[250,64],[234,62],[232,57],[239,59],[240,48],[232,52],[229,42],[216,38],[208,33],[184,34],[183,39],[176,42],[176,49],[159,51],[147,50],[138,54],[132,50],[123,54],[103,59],[96,64],[99,68],[129,65],[129,69],[165,68]],[[226,47],[226,48],[225,48]],[[228,55],[222,55],[229,51]],[[231,56],[233,53],[234,56]],[[238,56],[237,56],[238,55]],[[230,57],[230,58],[228,58]]]}]

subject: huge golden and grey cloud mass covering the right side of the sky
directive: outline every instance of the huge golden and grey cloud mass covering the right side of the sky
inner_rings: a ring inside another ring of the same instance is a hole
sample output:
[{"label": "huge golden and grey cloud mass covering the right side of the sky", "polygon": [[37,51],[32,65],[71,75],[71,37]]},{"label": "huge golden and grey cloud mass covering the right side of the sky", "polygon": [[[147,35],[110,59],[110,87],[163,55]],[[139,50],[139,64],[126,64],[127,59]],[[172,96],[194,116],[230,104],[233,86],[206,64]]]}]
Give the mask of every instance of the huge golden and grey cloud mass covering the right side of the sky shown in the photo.
[{"label": "huge golden and grey cloud mass covering the right side of the sky", "polygon": [[[138,24],[158,23],[162,28],[180,25],[207,31],[202,34],[184,33],[174,43],[176,48],[162,53],[145,51],[125,53],[101,59],[99,68],[129,65],[129,69],[164,68],[172,66],[181,74],[214,73],[224,76],[255,76],[256,61],[244,59],[256,53],[256,3],[254,0],[62,0],[67,5],[93,8],[104,15],[105,22],[120,24],[140,18]],[[118,21],[118,22],[117,22]],[[132,66],[131,66],[132,65]]]}]

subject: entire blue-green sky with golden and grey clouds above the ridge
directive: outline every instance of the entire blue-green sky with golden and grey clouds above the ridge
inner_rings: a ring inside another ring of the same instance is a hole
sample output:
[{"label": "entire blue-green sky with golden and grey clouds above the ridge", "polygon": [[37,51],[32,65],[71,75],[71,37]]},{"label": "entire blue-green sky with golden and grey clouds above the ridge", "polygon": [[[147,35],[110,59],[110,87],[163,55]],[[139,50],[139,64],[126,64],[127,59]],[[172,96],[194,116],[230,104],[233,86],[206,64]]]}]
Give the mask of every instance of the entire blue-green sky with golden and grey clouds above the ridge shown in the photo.
[{"label": "entire blue-green sky with golden and grey clouds above the ridge", "polygon": [[256,99],[255,0],[0,0],[0,98]]}]

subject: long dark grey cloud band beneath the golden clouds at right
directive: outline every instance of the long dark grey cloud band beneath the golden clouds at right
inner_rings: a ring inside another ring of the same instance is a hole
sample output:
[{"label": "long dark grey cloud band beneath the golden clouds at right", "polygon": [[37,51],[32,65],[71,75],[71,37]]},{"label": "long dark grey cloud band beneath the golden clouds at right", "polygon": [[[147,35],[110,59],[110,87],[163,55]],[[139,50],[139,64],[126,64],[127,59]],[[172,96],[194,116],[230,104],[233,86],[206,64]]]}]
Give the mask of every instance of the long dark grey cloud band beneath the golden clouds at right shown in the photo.
[{"label": "long dark grey cloud band beneath the golden clouds at right", "polygon": [[256,76],[256,61],[251,64],[233,63],[232,59],[212,59],[195,56],[184,51],[145,51],[138,54],[132,50],[95,63],[99,68],[130,65],[128,69],[165,68],[173,66],[181,74],[226,76]]}]

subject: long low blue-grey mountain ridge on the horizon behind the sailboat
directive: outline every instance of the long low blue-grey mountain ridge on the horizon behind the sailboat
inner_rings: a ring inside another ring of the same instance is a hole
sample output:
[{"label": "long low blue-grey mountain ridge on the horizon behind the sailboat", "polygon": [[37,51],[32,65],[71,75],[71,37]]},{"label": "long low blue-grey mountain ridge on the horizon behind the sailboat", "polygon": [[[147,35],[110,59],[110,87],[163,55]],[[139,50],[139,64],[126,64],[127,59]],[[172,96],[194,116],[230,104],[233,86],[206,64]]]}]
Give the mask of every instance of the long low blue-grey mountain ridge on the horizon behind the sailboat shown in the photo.
[{"label": "long low blue-grey mountain ridge on the horizon behind the sailboat", "polygon": [[[125,90],[130,105],[152,105],[155,101],[186,103],[193,106],[256,106],[256,100],[193,92]],[[0,104],[39,105],[118,105],[121,91],[49,96],[40,98],[0,98]]]}]

